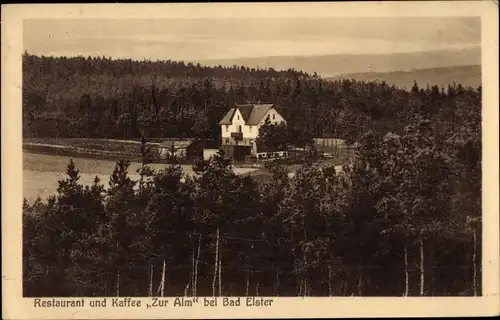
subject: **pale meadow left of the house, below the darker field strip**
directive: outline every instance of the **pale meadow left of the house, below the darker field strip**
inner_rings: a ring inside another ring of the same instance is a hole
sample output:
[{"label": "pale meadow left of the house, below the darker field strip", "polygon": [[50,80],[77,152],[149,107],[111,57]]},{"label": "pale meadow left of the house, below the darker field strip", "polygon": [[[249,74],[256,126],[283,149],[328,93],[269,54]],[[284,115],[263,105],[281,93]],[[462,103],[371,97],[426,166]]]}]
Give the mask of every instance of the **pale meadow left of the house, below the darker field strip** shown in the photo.
[{"label": "pale meadow left of the house, below the darker field strip", "polygon": [[[34,201],[37,197],[46,199],[56,193],[58,181],[66,178],[66,167],[70,157],[55,156],[23,152],[23,194],[28,201]],[[109,176],[113,172],[115,161],[95,160],[89,158],[73,157],[76,168],[80,170],[80,181],[85,185],[92,184],[95,176],[101,179],[105,187],[108,186]],[[163,169],[165,164],[151,164],[151,168]],[[191,165],[181,166],[187,174],[194,174]],[[140,163],[132,162],[129,167],[129,174],[132,179],[138,180],[139,175],[136,170],[140,168]],[[245,174],[255,171],[254,168],[234,168],[237,174]]]}]

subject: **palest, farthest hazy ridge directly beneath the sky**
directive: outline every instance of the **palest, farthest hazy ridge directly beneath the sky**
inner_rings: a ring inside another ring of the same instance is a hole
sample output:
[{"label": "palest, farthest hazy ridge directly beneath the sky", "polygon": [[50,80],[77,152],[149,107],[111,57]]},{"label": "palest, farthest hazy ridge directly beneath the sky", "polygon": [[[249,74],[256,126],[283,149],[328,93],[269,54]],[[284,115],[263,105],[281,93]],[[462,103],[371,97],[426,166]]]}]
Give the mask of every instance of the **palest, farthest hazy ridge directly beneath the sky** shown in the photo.
[{"label": "palest, farthest hazy ridge directly beneath the sky", "polygon": [[245,65],[250,68],[293,68],[322,77],[334,77],[346,73],[410,71],[436,67],[480,65],[481,48],[463,50],[425,51],[394,54],[334,54],[322,56],[269,56],[197,61],[207,66]]}]

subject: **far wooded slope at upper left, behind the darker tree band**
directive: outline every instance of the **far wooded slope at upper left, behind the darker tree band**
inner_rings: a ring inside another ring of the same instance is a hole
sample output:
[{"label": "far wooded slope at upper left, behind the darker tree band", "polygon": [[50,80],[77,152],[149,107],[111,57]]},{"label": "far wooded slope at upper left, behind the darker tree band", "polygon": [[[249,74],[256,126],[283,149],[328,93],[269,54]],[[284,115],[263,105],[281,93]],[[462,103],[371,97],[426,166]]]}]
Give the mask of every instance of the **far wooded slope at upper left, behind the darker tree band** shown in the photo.
[{"label": "far wooded slope at upper left, behind the darker tree band", "polygon": [[259,83],[265,78],[307,76],[295,70],[264,70],[245,66],[207,67],[184,61],[136,61],[107,57],[23,56],[24,91],[42,92],[47,100],[74,99],[83,93],[112,97],[132,87],[169,88],[200,84],[209,79],[218,88]]}]

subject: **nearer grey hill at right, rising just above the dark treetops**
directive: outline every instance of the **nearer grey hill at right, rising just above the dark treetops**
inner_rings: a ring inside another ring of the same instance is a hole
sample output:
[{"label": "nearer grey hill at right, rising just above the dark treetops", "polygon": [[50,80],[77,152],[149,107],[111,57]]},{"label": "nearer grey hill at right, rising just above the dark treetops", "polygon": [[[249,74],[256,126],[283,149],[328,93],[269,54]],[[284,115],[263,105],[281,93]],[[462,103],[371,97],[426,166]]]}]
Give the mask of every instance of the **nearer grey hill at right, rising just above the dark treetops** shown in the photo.
[{"label": "nearer grey hill at right, rising just above the dark treetops", "polygon": [[406,89],[410,89],[414,81],[420,87],[437,85],[438,87],[446,88],[453,83],[461,83],[466,87],[477,88],[481,85],[481,66],[453,66],[411,71],[351,73],[327,79],[332,81],[342,79],[364,82],[385,81],[389,85]]}]

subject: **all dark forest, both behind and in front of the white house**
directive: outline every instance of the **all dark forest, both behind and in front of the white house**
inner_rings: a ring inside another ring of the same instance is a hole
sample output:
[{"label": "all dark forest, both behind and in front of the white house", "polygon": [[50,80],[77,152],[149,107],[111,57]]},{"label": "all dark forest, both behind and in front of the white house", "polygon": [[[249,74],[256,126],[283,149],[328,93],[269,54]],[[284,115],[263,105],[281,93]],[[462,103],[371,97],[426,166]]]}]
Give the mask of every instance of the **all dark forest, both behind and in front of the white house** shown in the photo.
[{"label": "all dark forest, both behind and in front of the white house", "polygon": [[[358,145],[341,171],[311,156],[293,177],[270,162],[264,181],[235,175],[222,151],[195,176],[144,161],[138,181],[118,159],[109,186],[83,186],[68,160],[56,194],[23,204],[24,296],[481,295],[481,88],[173,62],[24,64],[25,136],[214,136],[211,120],[184,117],[215,120],[231,99],[261,99],[296,132]],[[160,69],[168,86],[149,82]],[[221,84],[231,77],[241,82]],[[168,133],[145,133],[149,111]],[[61,119],[75,122],[45,127]],[[91,123],[99,130],[84,130]],[[147,159],[147,139],[141,150]]]}]

